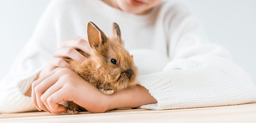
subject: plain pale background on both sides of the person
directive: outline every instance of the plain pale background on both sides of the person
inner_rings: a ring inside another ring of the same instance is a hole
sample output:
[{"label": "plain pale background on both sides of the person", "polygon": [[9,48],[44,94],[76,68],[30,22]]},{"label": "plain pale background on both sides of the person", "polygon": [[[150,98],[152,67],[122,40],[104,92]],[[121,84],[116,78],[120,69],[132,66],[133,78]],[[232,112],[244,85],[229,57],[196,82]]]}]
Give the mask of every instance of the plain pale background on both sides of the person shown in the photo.
[{"label": "plain pale background on both sides of the person", "polygon": [[[50,0],[0,0],[0,79],[10,70]],[[213,43],[227,47],[256,83],[256,0],[172,0],[189,8]]]}]

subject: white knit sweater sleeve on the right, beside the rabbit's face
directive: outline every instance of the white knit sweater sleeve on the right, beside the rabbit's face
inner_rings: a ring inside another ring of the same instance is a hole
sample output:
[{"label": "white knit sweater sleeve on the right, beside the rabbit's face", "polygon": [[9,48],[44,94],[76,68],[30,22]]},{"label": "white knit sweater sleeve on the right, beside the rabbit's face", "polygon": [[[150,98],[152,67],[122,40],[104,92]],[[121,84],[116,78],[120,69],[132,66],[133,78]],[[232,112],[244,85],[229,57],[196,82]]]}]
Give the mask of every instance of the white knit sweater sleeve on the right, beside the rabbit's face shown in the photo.
[{"label": "white knit sweater sleeve on the right, beside the rabbit's face", "polygon": [[197,19],[188,15],[175,25],[169,42],[170,62],[162,71],[138,78],[158,103],[140,108],[166,110],[256,102],[256,87],[248,74],[232,62],[227,49],[205,43]]}]

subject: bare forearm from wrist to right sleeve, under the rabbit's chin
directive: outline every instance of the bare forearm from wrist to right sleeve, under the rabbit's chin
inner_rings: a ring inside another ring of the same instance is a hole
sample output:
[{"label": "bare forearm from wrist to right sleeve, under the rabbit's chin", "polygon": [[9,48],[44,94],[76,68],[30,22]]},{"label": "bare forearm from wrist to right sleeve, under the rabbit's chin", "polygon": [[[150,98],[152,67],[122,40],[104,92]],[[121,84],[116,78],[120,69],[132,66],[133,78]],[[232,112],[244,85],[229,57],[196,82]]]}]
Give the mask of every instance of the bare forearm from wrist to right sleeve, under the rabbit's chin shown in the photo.
[{"label": "bare forearm from wrist to right sleeve, under the rabbit's chin", "polygon": [[108,110],[116,108],[135,108],[146,104],[155,104],[157,100],[140,85],[109,95]]}]

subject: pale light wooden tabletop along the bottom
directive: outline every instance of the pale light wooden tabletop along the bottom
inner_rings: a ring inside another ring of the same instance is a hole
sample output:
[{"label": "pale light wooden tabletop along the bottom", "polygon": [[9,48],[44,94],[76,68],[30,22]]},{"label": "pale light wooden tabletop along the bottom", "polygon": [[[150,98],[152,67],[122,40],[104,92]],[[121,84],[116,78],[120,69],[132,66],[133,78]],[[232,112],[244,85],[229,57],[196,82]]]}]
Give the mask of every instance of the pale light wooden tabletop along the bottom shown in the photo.
[{"label": "pale light wooden tabletop along the bottom", "polygon": [[256,103],[178,110],[118,109],[75,115],[47,112],[0,114],[0,123],[256,123]]}]

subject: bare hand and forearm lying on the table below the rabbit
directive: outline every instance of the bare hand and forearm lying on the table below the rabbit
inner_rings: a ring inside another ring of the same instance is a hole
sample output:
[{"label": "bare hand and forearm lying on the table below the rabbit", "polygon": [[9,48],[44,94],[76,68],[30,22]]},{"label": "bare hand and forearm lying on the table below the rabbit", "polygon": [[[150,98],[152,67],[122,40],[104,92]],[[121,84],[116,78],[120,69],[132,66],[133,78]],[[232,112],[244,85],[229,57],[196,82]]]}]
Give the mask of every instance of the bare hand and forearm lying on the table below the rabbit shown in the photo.
[{"label": "bare hand and forearm lying on the table below the rabbit", "polygon": [[68,68],[57,68],[35,81],[31,96],[38,110],[50,113],[66,112],[67,108],[58,104],[63,100],[73,101],[91,113],[157,103],[148,90],[139,85],[113,95],[104,95]]}]

